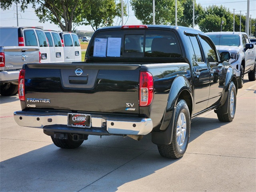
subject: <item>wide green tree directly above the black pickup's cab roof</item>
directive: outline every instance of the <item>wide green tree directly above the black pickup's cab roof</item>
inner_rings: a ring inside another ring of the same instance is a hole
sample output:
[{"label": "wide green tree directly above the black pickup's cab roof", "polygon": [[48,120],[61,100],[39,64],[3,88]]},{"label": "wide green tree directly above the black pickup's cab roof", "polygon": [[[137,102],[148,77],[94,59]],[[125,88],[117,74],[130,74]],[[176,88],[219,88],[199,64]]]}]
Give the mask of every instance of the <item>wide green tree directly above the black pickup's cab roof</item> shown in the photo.
[{"label": "wide green tree directly above the black pickup's cab roof", "polygon": [[[134,14],[142,24],[153,24],[153,2],[152,0],[131,0],[130,4]],[[182,4],[177,2],[177,17],[183,16]],[[175,24],[175,0],[155,1],[155,23],[163,25]]]}]

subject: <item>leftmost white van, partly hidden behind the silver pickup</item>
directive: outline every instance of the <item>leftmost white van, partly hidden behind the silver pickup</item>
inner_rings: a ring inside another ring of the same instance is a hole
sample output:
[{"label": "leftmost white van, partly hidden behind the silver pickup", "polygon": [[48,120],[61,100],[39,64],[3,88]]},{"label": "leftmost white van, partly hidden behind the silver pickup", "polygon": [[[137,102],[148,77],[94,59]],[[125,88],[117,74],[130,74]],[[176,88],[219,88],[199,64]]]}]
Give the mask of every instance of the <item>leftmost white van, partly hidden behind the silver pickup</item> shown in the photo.
[{"label": "leftmost white van, partly hidden behind the silver pickup", "polygon": [[[5,36],[1,35],[1,39],[8,39],[6,46],[36,46],[40,51],[40,62],[50,62],[50,49],[44,31],[36,27],[4,27],[6,29]],[[11,39],[11,40],[10,40]]]}]

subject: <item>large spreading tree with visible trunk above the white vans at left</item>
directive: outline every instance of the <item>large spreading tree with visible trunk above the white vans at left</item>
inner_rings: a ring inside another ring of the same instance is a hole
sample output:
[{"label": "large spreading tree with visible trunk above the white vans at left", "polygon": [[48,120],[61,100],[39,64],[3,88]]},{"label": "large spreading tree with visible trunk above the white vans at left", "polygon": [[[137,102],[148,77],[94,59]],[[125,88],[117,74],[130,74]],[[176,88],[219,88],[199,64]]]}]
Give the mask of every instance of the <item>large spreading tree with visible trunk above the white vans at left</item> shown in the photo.
[{"label": "large spreading tree with visible trunk above the white vans at left", "polygon": [[12,3],[18,3],[24,12],[28,4],[32,4],[39,22],[49,21],[63,31],[72,31],[81,24],[81,7],[86,8],[87,2],[88,0],[1,0],[0,8],[6,10]]}]

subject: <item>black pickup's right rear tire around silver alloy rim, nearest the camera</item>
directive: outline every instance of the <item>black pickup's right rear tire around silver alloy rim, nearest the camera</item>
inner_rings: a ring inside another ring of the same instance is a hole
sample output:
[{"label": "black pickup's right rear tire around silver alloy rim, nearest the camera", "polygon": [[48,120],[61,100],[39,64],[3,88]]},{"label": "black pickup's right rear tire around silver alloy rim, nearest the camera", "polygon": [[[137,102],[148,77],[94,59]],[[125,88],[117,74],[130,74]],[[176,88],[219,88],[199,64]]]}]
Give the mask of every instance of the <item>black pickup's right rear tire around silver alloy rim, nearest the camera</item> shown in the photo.
[{"label": "black pickup's right rear tire around silver alloy rim, nearest the camera", "polygon": [[[180,119],[180,122],[178,123],[179,119]],[[181,129],[183,128],[184,130],[184,127],[183,127],[184,123],[186,125],[185,133],[183,132],[183,136],[185,136],[185,138],[182,139],[182,131],[180,131],[180,136],[178,136],[177,133],[179,129],[178,126],[180,126]],[[182,124],[182,125],[179,125],[179,124]],[[157,145],[160,155],[165,158],[172,158],[172,159],[181,158],[186,152],[186,149],[188,147],[189,136],[190,136],[190,113],[188,110],[188,105],[185,100],[178,100],[178,103],[176,106],[175,119],[174,119],[172,142],[169,145],[162,145],[162,144]]]}]

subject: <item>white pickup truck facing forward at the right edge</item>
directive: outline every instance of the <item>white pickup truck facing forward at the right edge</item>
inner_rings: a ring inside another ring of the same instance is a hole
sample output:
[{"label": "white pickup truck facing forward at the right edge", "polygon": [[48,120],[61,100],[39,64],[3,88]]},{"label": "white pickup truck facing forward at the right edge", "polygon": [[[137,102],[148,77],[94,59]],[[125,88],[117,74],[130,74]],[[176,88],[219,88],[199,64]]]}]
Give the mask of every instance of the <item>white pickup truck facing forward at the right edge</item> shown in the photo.
[{"label": "white pickup truck facing forward at the right edge", "polygon": [[238,78],[238,88],[243,87],[244,75],[248,73],[250,81],[256,80],[256,48],[244,32],[208,32],[206,33],[221,53],[231,54],[231,64]]}]

